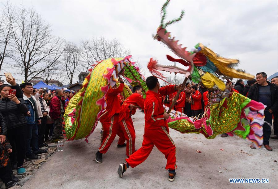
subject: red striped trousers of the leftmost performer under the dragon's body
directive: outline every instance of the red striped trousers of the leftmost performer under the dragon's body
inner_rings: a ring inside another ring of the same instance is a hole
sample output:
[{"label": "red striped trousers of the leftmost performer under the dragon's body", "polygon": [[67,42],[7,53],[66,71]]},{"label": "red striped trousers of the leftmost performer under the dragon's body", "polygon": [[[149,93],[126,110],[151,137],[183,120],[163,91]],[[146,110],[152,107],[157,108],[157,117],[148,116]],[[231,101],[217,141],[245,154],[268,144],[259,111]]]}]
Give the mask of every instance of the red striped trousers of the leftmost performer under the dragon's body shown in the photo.
[{"label": "red striped trousers of the leftmost performer under the dragon's body", "polygon": [[99,152],[105,154],[109,149],[111,143],[116,137],[116,134],[119,135],[118,144],[123,144],[125,141],[123,132],[120,130],[120,125],[118,123],[118,114],[114,114],[111,119],[101,119],[103,128],[103,140]]}]

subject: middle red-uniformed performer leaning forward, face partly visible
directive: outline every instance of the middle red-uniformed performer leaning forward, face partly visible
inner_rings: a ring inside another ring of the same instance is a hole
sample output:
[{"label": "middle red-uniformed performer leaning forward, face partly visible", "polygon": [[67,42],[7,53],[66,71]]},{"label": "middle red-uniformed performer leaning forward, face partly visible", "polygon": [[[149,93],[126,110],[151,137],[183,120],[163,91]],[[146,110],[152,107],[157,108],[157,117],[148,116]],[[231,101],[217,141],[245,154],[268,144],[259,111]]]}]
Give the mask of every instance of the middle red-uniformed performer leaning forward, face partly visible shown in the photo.
[{"label": "middle red-uniformed performer leaning forward, face partly visible", "polygon": [[119,124],[126,139],[127,157],[135,152],[135,129],[131,115],[135,114],[137,108],[133,108],[133,105],[139,106],[142,110],[144,110],[144,101],[145,100],[142,97],[142,87],[139,85],[134,86],[133,94],[125,99],[122,103],[122,109],[119,112]]}]

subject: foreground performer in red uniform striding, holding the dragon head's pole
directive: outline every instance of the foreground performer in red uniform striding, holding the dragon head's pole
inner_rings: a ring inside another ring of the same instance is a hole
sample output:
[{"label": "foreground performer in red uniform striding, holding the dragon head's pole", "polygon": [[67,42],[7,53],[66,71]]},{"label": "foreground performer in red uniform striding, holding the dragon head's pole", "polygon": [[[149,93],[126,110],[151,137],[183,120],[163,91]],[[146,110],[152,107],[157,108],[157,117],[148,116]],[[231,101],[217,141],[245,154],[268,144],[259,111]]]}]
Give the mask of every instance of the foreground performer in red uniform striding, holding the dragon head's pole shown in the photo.
[{"label": "foreground performer in red uniform striding, holding the dragon head's pole", "polygon": [[144,103],[145,133],[142,147],[126,159],[126,163],[119,165],[118,174],[122,177],[129,166],[134,168],[146,160],[155,145],[165,155],[167,159],[165,169],[169,169],[169,181],[173,181],[176,175],[175,169],[177,168],[176,147],[169,135],[166,121],[169,118],[169,114],[164,113],[162,95],[171,94],[178,89],[184,90],[184,86],[169,85],[160,88],[158,79],[154,76],[148,77],[146,84],[149,90],[146,93]]}]

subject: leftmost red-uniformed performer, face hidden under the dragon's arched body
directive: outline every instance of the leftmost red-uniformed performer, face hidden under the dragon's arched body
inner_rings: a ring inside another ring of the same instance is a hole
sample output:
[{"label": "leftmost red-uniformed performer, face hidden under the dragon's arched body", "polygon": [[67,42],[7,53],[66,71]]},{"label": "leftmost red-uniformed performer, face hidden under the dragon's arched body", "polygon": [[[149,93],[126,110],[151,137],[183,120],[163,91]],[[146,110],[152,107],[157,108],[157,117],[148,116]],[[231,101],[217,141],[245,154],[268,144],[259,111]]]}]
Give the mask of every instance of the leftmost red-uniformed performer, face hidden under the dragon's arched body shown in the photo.
[{"label": "leftmost red-uniformed performer, face hidden under the dragon's arched body", "polygon": [[[105,154],[109,149],[111,143],[115,139],[116,134],[119,132],[120,125],[118,122],[118,115],[121,109],[121,105],[118,99],[118,93],[121,93],[124,88],[124,82],[122,78],[119,77],[120,86],[117,88],[110,88],[106,94],[106,118],[100,119],[103,127],[103,132],[105,133],[101,147],[96,152],[96,162],[102,162],[102,154]],[[115,85],[116,86],[116,85]],[[114,86],[114,87],[115,87]]]}]

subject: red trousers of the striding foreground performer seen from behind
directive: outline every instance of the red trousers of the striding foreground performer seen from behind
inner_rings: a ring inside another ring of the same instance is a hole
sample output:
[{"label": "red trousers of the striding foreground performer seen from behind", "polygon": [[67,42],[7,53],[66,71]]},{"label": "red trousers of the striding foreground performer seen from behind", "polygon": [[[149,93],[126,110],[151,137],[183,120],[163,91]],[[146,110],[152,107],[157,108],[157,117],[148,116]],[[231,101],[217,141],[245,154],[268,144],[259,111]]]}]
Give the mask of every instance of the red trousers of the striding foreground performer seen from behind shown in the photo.
[{"label": "red trousers of the striding foreground performer seen from behind", "polygon": [[163,126],[159,129],[145,128],[142,147],[136,152],[134,152],[128,159],[126,159],[126,162],[132,168],[139,165],[147,159],[147,157],[152,152],[152,148],[154,145],[160,152],[162,152],[165,155],[165,158],[167,159],[165,169],[177,169],[176,146],[172,138],[170,137],[168,131]]}]

